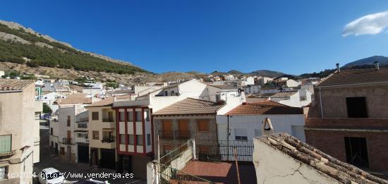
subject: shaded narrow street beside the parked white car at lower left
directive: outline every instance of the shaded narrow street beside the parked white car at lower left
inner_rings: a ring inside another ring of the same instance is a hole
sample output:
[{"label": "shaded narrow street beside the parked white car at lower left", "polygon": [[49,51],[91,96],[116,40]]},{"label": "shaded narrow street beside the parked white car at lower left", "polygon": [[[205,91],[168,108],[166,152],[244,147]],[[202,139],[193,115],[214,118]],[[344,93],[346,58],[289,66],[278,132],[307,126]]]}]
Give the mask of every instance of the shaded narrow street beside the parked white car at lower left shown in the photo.
[{"label": "shaded narrow street beside the parked white car at lower left", "polygon": [[[75,164],[68,162],[57,157],[53,152],[49,150],[49,129],[41,123],[40,126],[40,162],[34,164],[35,173],[40,173],[42,169],[53,167],[65,173],[65,178],[68,181],[86,180],[92,178],[93,180],[105,181],[109,183],[147,183],[146,180],[140,180],[139,178],[104,178],[102,173],[116,174],[116,171],[107,168],[91,167],[89,164]],[[96,173],[97,177],[88,177],[87,174]],[[102,177],[99,177],[99,176]],[[107,175],[107,174],[106,174]],[[123,174],[121,174],[123,176]],[[38,183],[37,179],[34,179],[34,183]]]}]

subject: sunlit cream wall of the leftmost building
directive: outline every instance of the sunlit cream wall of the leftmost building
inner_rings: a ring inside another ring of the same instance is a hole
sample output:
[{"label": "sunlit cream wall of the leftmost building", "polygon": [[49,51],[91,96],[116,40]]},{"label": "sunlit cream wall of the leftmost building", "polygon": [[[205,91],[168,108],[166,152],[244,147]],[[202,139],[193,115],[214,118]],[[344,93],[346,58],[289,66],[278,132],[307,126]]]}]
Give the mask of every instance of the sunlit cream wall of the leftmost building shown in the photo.
[{"label": "sunlit cream wall of the leftmost building", "polygon": [[[0,93],[0,135],[11,135],[12,157],[0,159],[0,166],[8,166],[8,173],[32,172],[35,140],[35,83],[23,92]],[[24,152],[20,149],[27,147]],[[39,153],[37,154],[39,157]],[[20,164],[8,164],[5,160],[23,160]],[[4,183],[31,183],[32,178],[15,178]]]}]

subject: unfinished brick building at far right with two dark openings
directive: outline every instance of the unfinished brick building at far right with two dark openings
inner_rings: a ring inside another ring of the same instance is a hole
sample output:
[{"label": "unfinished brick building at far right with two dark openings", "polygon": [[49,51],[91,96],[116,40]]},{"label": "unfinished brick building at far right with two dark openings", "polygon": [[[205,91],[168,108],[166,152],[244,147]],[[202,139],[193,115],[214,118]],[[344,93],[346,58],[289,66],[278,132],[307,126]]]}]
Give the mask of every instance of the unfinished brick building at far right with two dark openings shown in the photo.
[{"label": "unfinished brick building at far right with two dark openings", "polygon": [[388,69],[339,70],[314,87],[306,142],[375,174],[388,172]]}]

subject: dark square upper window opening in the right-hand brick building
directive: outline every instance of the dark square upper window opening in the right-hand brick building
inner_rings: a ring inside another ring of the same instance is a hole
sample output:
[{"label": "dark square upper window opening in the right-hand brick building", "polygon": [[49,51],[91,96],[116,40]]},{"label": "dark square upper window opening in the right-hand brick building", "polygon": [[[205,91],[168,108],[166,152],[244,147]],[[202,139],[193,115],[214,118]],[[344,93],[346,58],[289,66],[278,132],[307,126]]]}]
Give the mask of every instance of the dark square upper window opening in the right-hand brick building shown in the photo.
[{"label": "dark square upper window opening in the right-hand brick building", "polygon": [[368,118],[365,97],[346,98],[348,118]]}]

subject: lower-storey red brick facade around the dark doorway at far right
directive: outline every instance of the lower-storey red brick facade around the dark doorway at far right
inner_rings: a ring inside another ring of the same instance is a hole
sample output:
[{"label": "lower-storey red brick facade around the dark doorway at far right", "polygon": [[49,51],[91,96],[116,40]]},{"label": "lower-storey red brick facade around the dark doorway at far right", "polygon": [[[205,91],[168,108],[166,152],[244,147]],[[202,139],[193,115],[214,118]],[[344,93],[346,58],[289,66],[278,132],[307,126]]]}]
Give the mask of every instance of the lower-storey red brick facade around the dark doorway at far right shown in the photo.
[{"label": "lower-storey red brick facade around the dark doorway at far right", "polygon": [[306,118],[306,142],[346,162],[344,137],[365,137],[369,170],[388,172],[388,119]]}]

